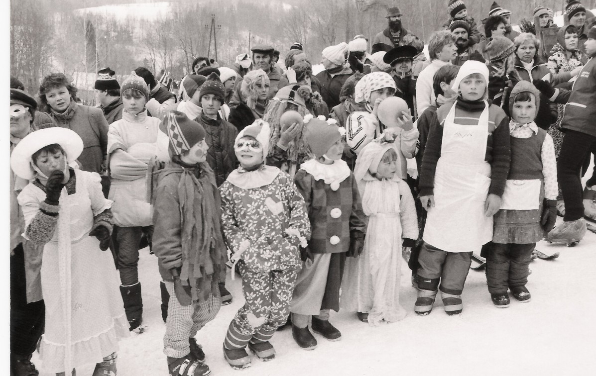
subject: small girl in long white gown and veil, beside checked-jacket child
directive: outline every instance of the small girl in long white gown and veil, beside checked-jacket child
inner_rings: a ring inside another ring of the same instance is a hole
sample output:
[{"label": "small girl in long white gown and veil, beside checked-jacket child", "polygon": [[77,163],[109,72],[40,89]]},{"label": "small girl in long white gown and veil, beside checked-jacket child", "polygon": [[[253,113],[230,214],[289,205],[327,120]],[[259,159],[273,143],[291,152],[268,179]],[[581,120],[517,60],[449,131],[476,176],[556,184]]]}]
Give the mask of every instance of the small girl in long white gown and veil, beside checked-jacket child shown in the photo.
[{"label": "small girl in long white gown and veil, beside checked-jacket child", "polygon": [[405,317],[399,303],[402,245],[412,247],[418,236],[414,198],[398,176],[394,138],[387,130],[364,146],[354,169],[368,228],[362,254],[346,259],[341,308],[357,311],[371,325]]}]

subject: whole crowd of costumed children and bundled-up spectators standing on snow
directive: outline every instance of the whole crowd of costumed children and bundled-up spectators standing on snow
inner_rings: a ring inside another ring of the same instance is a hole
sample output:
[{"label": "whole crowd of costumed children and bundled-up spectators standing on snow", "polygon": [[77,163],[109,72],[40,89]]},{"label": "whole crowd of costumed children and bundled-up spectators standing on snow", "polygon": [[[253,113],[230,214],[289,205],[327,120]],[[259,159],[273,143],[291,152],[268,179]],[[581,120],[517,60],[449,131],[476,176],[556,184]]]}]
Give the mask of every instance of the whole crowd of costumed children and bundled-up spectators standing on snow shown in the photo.
[{"label": "whole crowd of costumed children and bundled-up spectators standing on snow", "polygon": [[417,315],[439,291],[461,314],[473,258],[487,301],[529,302],[530,261],[556,256],[536,243],[573,245],[596,220],[596,171],[581,180],[596,155],[596,18],[567,1],[552,43],[544,7],[522,33],[496,2],[480,25],[461,0],[447,12],[429,59],[391,7],[371,42],[323,49],[318,74],[296,42],[285,69],[268,45],[229,67],[197,57],[176,93],[167,74],[118,82],[105,68],[97,107],[63,73],[35,95],[11,76],[11,375],[38,375],[38,348],[47,372],[115,376],[119,340],[144,330],[146,246],[172,376],[210,374],[195,336],[240,299],[236,275],[245,302],[222,328],[234,369],[247,349],[274,359],[286,326],[305,350],[312,332],[340,340],[331,310],[400,321],[404,262]]}]

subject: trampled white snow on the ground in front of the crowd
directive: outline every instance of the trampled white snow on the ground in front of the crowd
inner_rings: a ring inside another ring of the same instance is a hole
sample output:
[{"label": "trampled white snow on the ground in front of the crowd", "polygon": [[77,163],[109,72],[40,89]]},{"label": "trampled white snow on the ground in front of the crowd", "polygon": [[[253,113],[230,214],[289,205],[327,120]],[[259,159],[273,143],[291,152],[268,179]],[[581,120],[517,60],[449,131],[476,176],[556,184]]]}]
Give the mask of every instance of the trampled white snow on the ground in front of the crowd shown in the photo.
[{"label": "trampled white snow on the ground in front of the crowd", "polygon": [[[330,342],[315,334],[319,346],[305,351],[294,343],[287,328],[272,339],[277,358],[264,363],[253,357],[252,367],[244,371],[231,369],[222,354],[229,321],[243,304],[240,278],[231,281],[228,272],[234,302],[222,307],[197,339],[212,375],[596,374],[596,234],[588,232],[573,248],[544,242],[539,243],[541,247],[557,247],[561,256],[530,264],[529,303],[512,298],[509,308],[494,308],[484,272],[471,270],[460,316],[446,315],[437,299],[429,316],[417,317],[412,311],[416,292],[403,265],[402,303],[409,312],[403,321],[370,327],[353,312],[332,312],[331,322],[343,334],[341,341]],[[122,341],[118,375],[167,376],[157,258],[148,249],[141,253],[139,274],[148,330]],[[41,362],[36,363],[41,375],[50,376],[43,372]],[[77,376],[89,376],[92,369],[77,369]]]}]

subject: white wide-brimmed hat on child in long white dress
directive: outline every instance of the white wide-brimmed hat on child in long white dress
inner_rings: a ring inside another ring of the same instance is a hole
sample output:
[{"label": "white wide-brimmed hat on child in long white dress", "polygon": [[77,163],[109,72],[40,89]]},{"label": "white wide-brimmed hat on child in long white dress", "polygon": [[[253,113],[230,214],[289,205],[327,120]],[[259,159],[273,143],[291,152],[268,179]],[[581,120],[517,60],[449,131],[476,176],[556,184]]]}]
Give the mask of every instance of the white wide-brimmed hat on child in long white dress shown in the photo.
[{"label": "white wide-brimmed hat on child in long white dress", "polygon": [[10,167],[20,178],[30,180],[36,176],[31,156],[45,146],[57,143],[66,152],[67,163],[74,162],[83,151],[83,140],[75,131],[52,127],[33,131],[27,134],[10,155]]}]

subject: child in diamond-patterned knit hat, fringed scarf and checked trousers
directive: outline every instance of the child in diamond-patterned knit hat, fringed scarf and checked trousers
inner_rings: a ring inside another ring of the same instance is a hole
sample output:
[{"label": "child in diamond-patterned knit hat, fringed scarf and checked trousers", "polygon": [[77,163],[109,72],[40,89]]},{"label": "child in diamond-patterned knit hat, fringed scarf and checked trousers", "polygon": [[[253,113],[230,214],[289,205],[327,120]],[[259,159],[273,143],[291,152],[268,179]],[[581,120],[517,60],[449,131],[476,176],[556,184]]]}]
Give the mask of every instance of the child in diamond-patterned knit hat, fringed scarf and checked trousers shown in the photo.
[{"label": "child in diamond-patterned knit hat, fringed scarf and checked trousers", "polygon": [[205,355],[194,336],[221,306],[218,276],[225,270],[221,201],[213,170],[205,162],[206,132],[182,112],[162,123],[172,160],[154,176],[153,251],[170,294],[166,334],[172,376],[208,375]]}]

